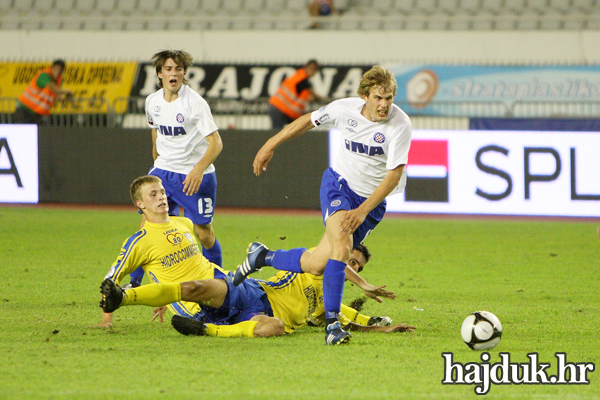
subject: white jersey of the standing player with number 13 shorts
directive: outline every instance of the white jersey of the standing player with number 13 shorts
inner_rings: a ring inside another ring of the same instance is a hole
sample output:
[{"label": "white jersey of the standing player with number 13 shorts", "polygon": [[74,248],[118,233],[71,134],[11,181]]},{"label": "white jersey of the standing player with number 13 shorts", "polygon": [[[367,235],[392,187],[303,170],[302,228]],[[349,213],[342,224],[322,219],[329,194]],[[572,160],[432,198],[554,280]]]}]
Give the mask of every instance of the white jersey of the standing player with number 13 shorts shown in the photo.
[{"label": "white jersey of the standing player with number 13 shorts", "polygon": [[[146,98],[148,125],[156,129],[158,157],[154,166],[167,171],[188,174],[208,148],[206,137],[218,130],[208,103],[188,85],[182,85],[179,97],[168,103],[164,89]],[[204,171],[211,173],[211,164]]]}]

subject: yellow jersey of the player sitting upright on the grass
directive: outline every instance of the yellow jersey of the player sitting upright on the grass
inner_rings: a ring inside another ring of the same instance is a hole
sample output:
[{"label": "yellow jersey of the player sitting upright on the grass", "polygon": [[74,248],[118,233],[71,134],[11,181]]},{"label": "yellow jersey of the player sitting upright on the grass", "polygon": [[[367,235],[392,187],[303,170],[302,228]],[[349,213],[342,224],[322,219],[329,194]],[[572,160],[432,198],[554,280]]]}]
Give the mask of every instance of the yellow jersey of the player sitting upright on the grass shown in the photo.
[{"label": "yellow jersey of the player sitting upright on the grass", "polygon": [[[192,221],[185,217],[171,217],[165,224],[146,222],[141,230],[123,242],[121,253],[106,279],[119,283],[140,266],[154,283],[224,278],[227,272],[202,255],[193,232]],[[192,316],[200,311],[197,303],[185,301],[168,307],[182,316]]]}]

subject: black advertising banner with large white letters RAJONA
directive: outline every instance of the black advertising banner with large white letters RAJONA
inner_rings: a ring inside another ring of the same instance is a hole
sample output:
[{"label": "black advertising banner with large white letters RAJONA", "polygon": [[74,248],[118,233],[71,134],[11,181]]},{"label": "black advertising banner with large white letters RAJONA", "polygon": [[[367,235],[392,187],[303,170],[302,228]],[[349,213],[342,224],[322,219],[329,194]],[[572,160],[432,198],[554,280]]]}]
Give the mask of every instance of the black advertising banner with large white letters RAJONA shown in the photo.
[{"label": "black advertising banner with large white letters RAJONA", "polygon": [[[285,64],[194,64],[187,71],[188,84],[211,100],[213,111],[244,111],[261,104],[251,100],[273,95],[281,82],[302,65]],[[315,93],[332,99],[355,96],[368,65],[322,65],[311,78]],[[140,64],[133,97],[146,97],[158,90],[158,77],[151,63]],[[249,101],[250,100],[250,101]],[[266,107],[265,104],[262,106]],[[265,110],[248,110],[265,112]]]}]

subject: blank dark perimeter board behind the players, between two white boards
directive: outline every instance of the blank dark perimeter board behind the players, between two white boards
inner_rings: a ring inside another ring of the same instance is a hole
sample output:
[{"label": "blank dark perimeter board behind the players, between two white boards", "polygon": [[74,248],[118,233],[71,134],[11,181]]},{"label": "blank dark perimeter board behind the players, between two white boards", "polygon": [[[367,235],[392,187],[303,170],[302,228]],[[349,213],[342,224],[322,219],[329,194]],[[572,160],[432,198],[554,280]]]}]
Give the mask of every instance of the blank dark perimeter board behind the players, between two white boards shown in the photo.
[{"label": "blank dark perimeter board behind the players, between two white boards", "polygon": [[[327,133],[309,132],[285,143],[255,177],[254,156],[274,133],[220,131],[217,206],[319,208]],[[152,166],[148,129],[41,127],[38,147],[40,202],[129,204],[129,184]]]}]

